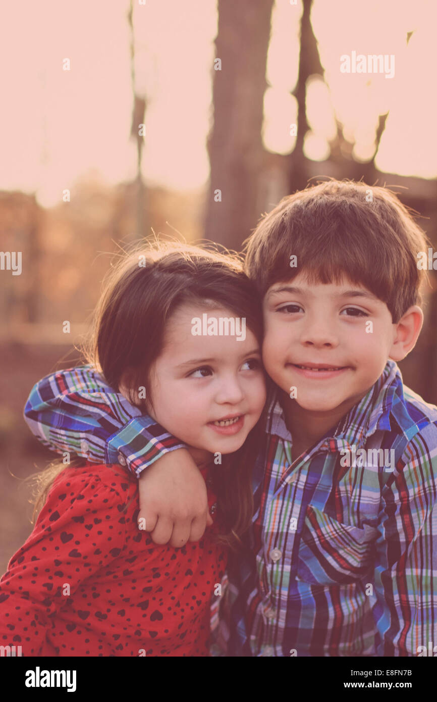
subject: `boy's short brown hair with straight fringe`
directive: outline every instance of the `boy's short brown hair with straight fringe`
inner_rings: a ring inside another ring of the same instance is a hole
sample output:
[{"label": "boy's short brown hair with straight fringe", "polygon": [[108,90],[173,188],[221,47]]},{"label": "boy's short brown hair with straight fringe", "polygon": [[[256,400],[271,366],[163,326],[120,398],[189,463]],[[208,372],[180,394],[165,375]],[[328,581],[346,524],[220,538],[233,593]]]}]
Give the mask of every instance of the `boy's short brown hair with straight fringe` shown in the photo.
[{"label": "boy's short brown hair with straight fringe", "polygon": [[[310,284],[339,283],[345,275],[386,303],[396,323],[422,304],[427,275],[417,268],[417,253],[429,245],[390,190],[328,180],[284,197],[260,221],[245,242],[245,270],[262,296],[300,272]],[[290,267],[293,255],[297,267]]]}]

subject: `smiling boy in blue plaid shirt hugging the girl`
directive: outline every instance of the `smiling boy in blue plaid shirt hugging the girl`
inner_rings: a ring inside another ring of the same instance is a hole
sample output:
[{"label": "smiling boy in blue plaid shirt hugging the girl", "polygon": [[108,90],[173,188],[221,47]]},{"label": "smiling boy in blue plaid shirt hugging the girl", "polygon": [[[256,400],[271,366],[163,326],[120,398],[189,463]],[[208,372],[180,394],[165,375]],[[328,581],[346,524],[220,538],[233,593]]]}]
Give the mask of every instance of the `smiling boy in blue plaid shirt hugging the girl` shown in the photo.
[{"label": "smiling boy in blue plaid shirt hugging the girl", "polygon": [[[275,385],[248,550],[229,571],[229,655],[416,656],[437,644],[437,408],[396,365],[422,328],[428,244],[393,194],[367,193],[335,180],[297,192],[248,240]],[[137,475],[155,462],[140,482],[152,538],[203,534],[187,452],[88,366],[41,380],[25,416],[58,450]]]}]

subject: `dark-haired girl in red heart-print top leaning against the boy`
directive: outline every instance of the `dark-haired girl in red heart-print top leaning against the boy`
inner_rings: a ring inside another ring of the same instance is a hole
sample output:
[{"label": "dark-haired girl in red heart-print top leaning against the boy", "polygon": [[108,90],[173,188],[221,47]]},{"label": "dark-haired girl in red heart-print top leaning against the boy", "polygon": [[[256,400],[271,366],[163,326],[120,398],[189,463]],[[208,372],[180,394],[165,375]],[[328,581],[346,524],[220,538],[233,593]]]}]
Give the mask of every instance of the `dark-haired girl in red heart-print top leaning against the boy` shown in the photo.
[{"label": "dark-haired girl in red heart-print top leaning against the boy", "polygon": [[79,458],[52,465],[34,530],[0,581],[1,645],[22,656],[208,656],[210,601],[253,512],[260,309],[238,260],[215,251],[156,245],[112,271],[88,362],[189,446],[213,526],[199,543],[156,545],[137,527],[133,475]]}]

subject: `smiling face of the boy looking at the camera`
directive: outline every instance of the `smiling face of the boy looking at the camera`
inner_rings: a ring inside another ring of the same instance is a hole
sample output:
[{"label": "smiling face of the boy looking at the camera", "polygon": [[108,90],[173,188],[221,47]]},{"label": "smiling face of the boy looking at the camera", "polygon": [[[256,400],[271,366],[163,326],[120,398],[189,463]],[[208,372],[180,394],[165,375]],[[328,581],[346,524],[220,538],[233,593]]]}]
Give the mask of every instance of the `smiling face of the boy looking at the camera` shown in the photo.
[{"label": "smiling face of the boy looking at the camera", "polygon": [[396,337],[388,307],[346,278],[309,285],[300,273],[272,285],[263,308],[267,373],[288,397],[296,389],[301,409],[334,425],[384,370]]}]

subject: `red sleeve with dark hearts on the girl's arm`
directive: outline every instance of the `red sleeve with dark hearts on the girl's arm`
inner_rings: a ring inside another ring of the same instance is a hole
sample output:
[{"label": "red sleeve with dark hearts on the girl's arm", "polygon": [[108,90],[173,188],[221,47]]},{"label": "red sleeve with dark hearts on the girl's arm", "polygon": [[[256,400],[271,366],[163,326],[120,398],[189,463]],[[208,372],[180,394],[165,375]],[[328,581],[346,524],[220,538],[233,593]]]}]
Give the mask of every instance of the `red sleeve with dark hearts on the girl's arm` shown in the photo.
[{"label": "red sleeve with dark hearts on the girl's arm", "polygon": [[[118,557],[126,543],[119,511],[126,497],[92,472],[73,476],[67,485],[74,498],[65,494],[65,480],[52,487],[32,534],[0,580],[0,644],[20,646],[22,656],[39,655],[53,616],[66,604],[75,606],[69,598],[81,583]],[[86,517],[102,524],[92,538]]]}]

